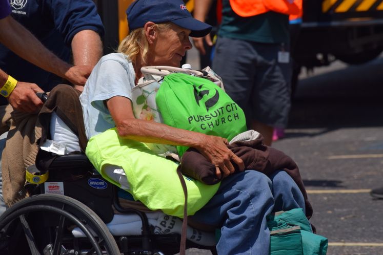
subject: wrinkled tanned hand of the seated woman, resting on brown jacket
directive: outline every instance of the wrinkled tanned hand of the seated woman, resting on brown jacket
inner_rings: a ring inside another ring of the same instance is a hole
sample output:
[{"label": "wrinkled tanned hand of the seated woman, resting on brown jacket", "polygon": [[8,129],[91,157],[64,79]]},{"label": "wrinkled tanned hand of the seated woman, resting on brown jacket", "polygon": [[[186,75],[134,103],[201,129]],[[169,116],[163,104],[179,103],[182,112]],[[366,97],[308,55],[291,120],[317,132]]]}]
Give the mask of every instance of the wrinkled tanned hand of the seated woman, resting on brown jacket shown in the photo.
[{"label": "wrinkled tanned hand of the seated woman, resting on brown jacket", "polygon": [[218,136],[205,136],[203,143],[197,150],[215,165],[218,179],[225,178],[234,173],[234,162],[239,171],[244,171],[244,162],[228,147],[228,140]]}]

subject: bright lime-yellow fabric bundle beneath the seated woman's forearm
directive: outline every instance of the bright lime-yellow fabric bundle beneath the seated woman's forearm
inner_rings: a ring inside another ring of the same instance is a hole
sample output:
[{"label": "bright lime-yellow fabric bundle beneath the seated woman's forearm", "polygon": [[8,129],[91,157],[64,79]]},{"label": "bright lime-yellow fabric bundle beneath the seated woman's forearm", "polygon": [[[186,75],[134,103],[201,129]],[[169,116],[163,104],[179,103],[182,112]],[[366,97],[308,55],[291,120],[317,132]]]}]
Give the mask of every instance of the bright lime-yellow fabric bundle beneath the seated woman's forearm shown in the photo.
[{"label": "bright lime-yellow fabric bundle beneath the seated woman's forearm", "polygon": [[[160,209],[167,215],[183,218],[185,197],[175,162],[156,155],[142,142],[120,138],[115,128],[93,136],[86,155],[105,179],[119,187],[120,183],[109,178],[104,170],[107,165],[122,167],[130,187],[127,191],[135,200],[151,210]],[[188,215],[194,215],[213,197],[219,183],[207,185],[189,177],[184,179]]]}]

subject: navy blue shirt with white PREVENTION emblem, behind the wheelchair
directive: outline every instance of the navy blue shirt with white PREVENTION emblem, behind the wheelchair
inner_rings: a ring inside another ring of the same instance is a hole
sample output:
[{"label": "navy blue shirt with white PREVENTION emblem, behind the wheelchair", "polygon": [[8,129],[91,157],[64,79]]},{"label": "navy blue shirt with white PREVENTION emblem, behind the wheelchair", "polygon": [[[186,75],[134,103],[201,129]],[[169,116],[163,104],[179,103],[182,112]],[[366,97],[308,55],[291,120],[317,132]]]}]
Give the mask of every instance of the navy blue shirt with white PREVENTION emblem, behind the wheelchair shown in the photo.
[{"label": "navy blue shirt with white PREVENTION emblem, behind the wheelchair", "polygon": [[[45,47],[64,61],[71,62],[71,42],[82,30],[104,35],[104,26],[91,0],[9,0],[12,17],[26,27]],[[28,41],[25,42],[28,47]],[[36,83],[50,91],[62,78],[18,57],[0,44],[0,68],[16,80]],[[7,104],[0,97],[0,105]]]}]

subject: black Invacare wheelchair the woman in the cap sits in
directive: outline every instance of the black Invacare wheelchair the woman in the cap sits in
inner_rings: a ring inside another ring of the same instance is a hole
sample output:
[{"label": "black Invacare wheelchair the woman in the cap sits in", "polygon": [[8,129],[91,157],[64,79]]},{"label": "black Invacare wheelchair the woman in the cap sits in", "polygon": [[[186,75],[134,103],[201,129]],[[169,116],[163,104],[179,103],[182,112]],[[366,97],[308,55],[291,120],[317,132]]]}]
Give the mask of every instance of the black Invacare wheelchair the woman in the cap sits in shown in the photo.
[{"label": "black Invacare wheelchair the woman in the cap sits in", "polygon": [[[103,179],[83,154],[55,157],[48,180],[25,188],[34,195],[15,203],[0,217],[2,255],[179,252],[180,235],[166,231],[155,234],[148,215],[156,212],[124,208],[117,186]],[[128,221],[113,223],[119,216]],[[118,225],[122,227],[117,229]],[[198,236],[198,231],[193,231]],[[216,254],[214,245],[187,240],[186,247],[209,249]]]}]

